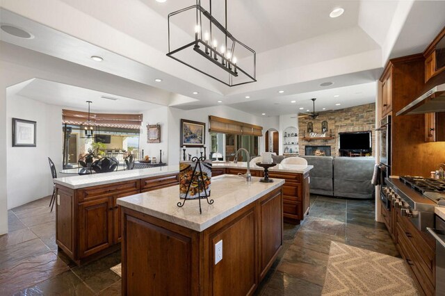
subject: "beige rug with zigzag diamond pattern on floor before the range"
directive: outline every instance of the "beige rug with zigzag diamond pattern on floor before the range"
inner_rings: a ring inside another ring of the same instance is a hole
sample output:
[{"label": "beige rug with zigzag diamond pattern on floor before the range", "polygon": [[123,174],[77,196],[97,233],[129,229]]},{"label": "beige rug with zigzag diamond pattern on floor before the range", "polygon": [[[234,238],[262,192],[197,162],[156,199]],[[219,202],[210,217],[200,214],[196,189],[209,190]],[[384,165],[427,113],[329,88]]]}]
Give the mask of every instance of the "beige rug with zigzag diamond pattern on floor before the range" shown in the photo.
[{"label": "beige rug with zigzag diamond pattern on floor before the range", "polygon": [[331,242],[322,295],[420,295],[401,258]]}]

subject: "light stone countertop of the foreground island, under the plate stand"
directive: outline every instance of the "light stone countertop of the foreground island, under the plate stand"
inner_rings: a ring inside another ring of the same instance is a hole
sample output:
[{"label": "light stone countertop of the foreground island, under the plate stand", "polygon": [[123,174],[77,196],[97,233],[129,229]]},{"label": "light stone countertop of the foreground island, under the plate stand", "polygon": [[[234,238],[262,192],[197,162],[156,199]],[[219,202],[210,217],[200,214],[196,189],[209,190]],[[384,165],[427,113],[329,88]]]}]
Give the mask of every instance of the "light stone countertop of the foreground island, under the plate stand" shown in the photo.
[{"label": "light stone countertop of the foreground island, under the plate stand", "polygon": [[209,200],[214,202],[207,204],[206,199],[201,199],[202,215],[197,199],[187,200],[181,208],[177,206],[178,202],[184,201],[179,199],[179,186],[122,197],[118,199],[118,205],[188,229],[204,231],[284,184],[282,179],[274,179],[273,183],[261,183],[259,179],[253,177],[248,182],[229,174],[212,177]]}]

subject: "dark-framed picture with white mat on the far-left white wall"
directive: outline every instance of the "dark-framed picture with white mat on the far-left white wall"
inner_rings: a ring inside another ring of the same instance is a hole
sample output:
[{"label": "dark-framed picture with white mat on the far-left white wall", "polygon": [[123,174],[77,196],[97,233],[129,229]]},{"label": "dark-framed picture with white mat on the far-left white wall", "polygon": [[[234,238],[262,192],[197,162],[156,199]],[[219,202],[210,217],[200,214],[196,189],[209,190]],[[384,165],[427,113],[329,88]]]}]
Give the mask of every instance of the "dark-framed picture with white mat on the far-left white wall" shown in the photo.
[{"label": "dark-framed picture with white mat on the far-left white wall", "polygon": [[13,147],[35,147],[37,122],[13,118]]}]

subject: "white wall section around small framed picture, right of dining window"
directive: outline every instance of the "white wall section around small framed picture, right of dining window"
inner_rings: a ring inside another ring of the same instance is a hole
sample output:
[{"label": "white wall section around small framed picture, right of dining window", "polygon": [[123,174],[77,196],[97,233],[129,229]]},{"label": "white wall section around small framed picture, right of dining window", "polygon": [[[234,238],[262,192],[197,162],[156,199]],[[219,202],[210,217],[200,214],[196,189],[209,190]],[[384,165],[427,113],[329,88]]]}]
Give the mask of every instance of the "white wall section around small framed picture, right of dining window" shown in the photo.
[{"label": "white wall section around small framed picture, right of dining window", "polygon": [[[143,126],[140,129],[139,151],[144,149],[144,155],[156,157],[159,162],[159,150],[162,150],[162,161],[168,163],[168,107],[159,107],[142,111]],[[161,142],[147,143],[147,124],[161,125]],[[179,145],[179,140],[178,140]],[[142,156],[142,154],[140,154]],[[168,163],[170,164],[170,163]]]}]

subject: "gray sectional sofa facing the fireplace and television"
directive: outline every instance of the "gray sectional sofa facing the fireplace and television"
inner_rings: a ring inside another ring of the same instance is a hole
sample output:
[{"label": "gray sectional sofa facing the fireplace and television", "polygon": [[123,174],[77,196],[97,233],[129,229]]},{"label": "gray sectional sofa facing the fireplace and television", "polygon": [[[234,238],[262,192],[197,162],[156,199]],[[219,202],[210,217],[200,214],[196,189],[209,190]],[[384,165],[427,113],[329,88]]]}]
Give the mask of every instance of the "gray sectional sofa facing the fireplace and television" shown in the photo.
[{"label": "gray sectional sofa facing the fireplace and television", "polygon": [[300,156],[314,165],[311,170],[310,192],[334,197],[371,199],[374,186],[371,184],[375,158]]}]

